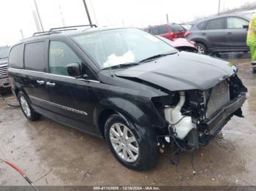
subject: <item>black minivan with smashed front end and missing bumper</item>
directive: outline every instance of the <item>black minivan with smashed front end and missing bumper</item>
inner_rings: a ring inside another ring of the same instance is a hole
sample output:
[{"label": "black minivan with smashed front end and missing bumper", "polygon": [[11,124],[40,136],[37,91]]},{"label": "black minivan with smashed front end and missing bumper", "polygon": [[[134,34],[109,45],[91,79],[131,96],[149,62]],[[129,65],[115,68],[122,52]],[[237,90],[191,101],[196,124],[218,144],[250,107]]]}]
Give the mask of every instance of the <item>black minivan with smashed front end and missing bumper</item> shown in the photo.
[{"label": "black minivan with smashed front end and missing bumper", "polygon": [[196,149],[241,117],[246,87],[237,71],[136,28],[50,30],[15,44],[9,59],[29,120],[42,114],[102,137],[136,170],[156,165],[159,145]]}]

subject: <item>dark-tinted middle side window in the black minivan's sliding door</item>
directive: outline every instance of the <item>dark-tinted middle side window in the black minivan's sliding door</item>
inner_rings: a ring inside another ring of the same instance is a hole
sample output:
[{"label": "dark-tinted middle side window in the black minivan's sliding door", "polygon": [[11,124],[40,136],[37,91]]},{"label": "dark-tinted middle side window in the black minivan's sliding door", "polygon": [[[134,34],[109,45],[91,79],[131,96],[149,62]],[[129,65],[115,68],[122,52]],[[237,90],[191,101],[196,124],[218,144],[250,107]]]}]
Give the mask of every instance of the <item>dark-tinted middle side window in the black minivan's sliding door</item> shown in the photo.
[{"label": "dark-tinted middle side window in the black minivan's sliding door", "polygon": [[47,42],[33,42],[25,44],[24,63],[25,69],[46,71]]}]

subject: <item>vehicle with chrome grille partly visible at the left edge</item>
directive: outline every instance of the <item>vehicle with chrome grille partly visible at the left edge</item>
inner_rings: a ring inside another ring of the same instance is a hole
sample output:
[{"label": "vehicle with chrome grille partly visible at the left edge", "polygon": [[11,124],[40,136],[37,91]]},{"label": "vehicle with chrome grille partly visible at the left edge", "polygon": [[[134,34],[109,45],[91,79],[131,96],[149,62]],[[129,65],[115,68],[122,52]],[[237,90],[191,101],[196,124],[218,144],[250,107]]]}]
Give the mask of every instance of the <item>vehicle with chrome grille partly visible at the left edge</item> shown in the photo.
[{"label": "vehicle with chrome grille partly visible at the left edge", "polygon": [[7,72],[7,62],[10,47],[0,47],[0,88],[10,87],[10,80]]}]

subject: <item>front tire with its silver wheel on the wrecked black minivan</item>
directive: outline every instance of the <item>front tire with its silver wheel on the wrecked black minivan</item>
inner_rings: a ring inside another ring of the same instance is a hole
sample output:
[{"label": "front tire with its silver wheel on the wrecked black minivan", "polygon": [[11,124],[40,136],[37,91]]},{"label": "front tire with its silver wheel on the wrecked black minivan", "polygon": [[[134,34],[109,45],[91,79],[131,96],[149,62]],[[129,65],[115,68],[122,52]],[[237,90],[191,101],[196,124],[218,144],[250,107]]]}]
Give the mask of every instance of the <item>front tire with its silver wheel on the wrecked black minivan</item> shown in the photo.
[{"label": "front tire with its silver wheel on the wrecked black minivan", "polygon": [[140,128],[118,114],[105,122],[105,139],[116,159],[133,170],[150,170],[158,160],[157,141],[154,130]]}]

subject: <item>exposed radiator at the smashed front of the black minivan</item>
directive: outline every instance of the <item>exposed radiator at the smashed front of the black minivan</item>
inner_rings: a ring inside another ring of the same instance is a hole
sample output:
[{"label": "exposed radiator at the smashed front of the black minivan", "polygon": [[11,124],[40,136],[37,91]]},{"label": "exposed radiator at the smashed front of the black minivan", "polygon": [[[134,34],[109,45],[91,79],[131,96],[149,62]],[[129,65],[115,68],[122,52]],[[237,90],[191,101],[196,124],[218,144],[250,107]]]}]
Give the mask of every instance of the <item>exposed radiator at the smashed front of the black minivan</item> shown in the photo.
[{"label": "exposed radiator at the smashed front of the black minivan", "polygon": [[[206,91],[208,94],[209,91]],[[205,96],[206,97],[206,96]],[[205,99],[206,100],[206,99]],[[211,95],[207,105],[206,118],[210,118],[222,106],[230,101],[230,90],[227,81],[220,82],[211,90]]]}]

